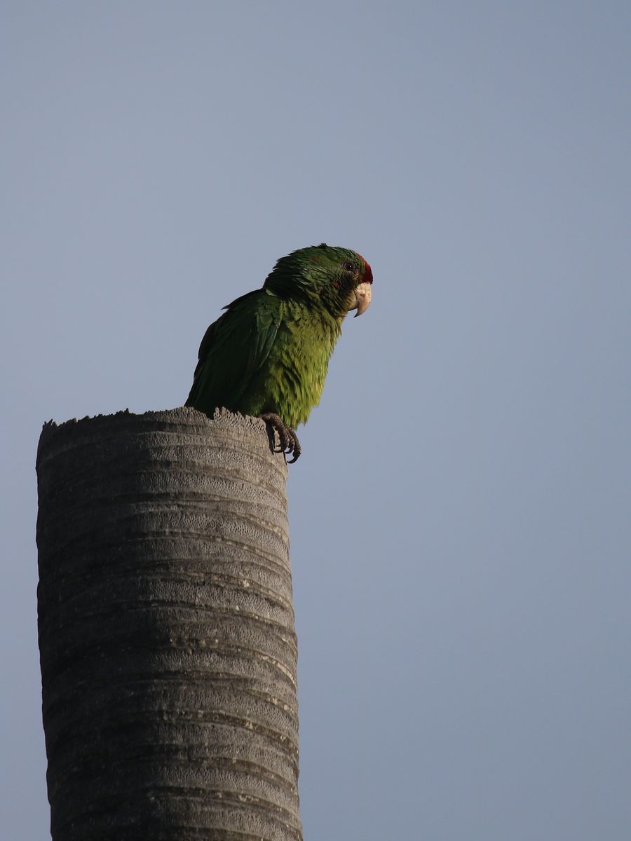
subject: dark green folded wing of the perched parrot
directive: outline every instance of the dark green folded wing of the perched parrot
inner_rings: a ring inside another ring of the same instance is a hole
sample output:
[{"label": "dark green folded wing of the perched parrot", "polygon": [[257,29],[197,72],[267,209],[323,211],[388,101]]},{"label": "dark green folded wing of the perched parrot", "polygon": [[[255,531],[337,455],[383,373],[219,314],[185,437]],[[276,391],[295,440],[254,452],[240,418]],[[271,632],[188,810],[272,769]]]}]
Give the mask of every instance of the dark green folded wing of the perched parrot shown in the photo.
[{"label": "dark green folded wing of the perched parrot", "polygon": [[[280,300],[267,289],[242,295],[206,331],[187,406],[212,417],[224,406],[257,413],[252,385],[269,356],[281,321]],[[262,395],[260,395],[262,396]]]}]

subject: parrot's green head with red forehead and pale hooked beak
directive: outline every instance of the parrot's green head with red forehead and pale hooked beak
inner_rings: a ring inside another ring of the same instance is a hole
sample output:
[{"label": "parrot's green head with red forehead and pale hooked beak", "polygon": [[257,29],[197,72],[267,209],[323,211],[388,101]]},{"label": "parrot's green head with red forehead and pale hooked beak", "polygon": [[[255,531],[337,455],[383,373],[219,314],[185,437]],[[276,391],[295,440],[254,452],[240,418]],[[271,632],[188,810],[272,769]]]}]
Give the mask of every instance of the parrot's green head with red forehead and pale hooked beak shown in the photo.
[{"label": "parrot's green head with red forehead and pale hooked beak", "polygon": [[342,319],[351,309],[362,315],[372,298],[373,272],[357,251],[320,246],[281,257],[264,287],[280,297],[305,299]]}]

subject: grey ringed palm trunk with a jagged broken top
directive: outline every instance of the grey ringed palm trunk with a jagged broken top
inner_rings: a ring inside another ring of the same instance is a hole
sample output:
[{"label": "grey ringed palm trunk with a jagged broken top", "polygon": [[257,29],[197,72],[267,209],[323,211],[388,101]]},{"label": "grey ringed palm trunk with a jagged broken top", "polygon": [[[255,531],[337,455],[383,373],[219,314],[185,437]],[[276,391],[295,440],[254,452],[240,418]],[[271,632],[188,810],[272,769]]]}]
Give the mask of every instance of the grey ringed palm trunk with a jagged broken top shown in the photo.
[{"label": "grey ringed palm trunk with a jagged broken top", "polygon": [[54,841],[300,841],[287,468],[265,425],[51,421],[37,471]]}]

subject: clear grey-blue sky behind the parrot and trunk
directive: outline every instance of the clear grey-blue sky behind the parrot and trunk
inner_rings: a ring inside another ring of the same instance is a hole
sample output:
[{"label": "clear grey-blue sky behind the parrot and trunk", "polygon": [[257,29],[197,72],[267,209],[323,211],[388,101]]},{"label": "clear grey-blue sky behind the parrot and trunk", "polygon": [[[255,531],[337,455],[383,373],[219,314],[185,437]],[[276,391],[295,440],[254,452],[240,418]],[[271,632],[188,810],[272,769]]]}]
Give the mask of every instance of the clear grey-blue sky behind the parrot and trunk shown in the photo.
[{"label": "clear grey-blue sky behind the parrot and trunk", "polygon": [[0,827],[48,838],[43,421],[360,251],[289,468],[307,841],[631,837],[631,4],[0,10]]}]

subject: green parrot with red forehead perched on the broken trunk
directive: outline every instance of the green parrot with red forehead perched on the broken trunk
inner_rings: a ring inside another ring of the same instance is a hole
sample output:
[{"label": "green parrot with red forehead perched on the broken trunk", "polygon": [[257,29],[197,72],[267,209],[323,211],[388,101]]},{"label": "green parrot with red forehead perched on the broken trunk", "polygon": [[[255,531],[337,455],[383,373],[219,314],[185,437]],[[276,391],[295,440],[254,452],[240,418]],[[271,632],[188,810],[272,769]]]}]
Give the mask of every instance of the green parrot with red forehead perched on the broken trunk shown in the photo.
[{"label": "green parrot with red forehead perched on the broken trunk", "polygon": [[187,406],[258,415],[282,452],[300,456],[294,427],[318,405],[342,320],[361,315],[373,272],[356,251],[310,246],[281,257],[262,288],[241,295],[211,324],[199,346]]}]

